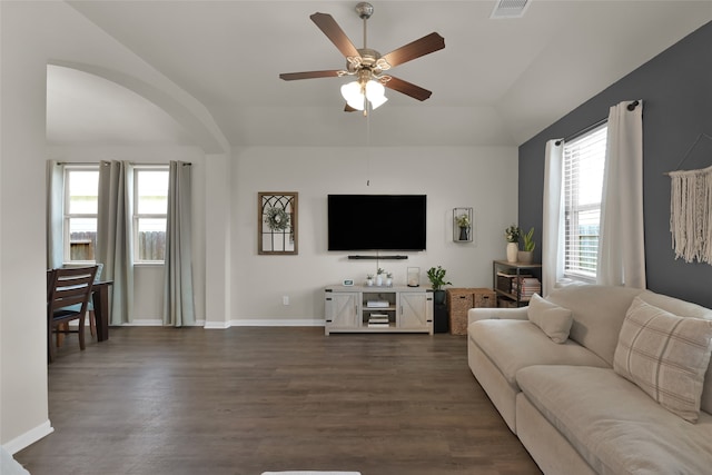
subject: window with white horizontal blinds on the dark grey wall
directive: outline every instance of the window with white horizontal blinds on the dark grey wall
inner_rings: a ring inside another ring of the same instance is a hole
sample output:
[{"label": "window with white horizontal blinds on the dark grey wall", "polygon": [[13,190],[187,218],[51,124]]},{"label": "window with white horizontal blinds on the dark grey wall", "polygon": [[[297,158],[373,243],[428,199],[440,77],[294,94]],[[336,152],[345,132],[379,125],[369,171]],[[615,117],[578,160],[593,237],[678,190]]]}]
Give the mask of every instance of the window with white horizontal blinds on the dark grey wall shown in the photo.
[{"label": "window with white horizontal blinds on the dark grey wall", "polygon": [[606,125],[564,145],[564,276],[596,277]]}]

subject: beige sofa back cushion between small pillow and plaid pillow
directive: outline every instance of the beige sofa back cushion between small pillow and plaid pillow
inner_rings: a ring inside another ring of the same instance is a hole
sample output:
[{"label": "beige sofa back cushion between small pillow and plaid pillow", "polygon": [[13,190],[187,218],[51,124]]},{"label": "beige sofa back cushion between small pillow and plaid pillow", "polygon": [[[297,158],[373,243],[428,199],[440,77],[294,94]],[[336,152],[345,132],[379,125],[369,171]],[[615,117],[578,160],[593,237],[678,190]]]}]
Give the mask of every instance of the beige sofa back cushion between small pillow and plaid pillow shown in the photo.
[{"label": "beige sofa back cushion between small pillow and plaid pillow", "polygon": [[641,289],[573,285],[553,290],[546,299],[572,311],[568,338],[585,346],[613,366],[619,333],[633,297]]}]

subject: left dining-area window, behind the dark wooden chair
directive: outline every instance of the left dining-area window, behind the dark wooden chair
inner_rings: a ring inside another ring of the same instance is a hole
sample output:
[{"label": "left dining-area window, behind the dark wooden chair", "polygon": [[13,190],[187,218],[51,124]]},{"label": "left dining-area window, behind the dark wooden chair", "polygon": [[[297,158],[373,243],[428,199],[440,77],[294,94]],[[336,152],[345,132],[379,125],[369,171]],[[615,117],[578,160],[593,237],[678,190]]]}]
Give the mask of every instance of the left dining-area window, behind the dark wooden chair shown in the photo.
[{"label": "left dining-area window, behind the dark wooden chair", "polygon": [[93,263],[97,249],[99,167],[65,168],[65,261]]}]

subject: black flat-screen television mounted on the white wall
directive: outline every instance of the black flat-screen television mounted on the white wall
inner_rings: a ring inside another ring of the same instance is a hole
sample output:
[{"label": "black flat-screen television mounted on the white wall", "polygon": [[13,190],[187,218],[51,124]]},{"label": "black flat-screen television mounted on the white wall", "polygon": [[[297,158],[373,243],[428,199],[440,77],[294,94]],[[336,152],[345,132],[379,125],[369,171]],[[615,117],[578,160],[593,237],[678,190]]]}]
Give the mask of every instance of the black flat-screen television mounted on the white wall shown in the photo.
[{"label": "black flat-screen television mounted on the white wall", "polygon": [[425,250],[425,195],[329,195],[328,250]]}]

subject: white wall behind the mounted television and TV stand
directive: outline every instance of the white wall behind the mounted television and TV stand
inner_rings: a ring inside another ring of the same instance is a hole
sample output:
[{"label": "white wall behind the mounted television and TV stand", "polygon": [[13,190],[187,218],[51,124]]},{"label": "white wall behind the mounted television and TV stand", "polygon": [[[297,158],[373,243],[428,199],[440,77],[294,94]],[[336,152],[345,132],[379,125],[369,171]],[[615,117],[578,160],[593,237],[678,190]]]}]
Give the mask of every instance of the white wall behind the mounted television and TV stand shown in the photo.
[{"label": "white wall behind the mounted television and TV stand", "polygon": [[[234,148],[233,160],[233,325],[320,324],[324,286],[375,271],[376,261],[347,259],[368,253],[326,250],[328,194],[427,195],[427,250],[390,253],[408,259],[380,261],[396,284],[405,284],[406,268],[416,266],[427,285],[425,271],[442,265],[454,286],[491,287],[492,259],[504,257],[504,229],[516,222],[514,147]],[[259,191],[299,192],[297,256],[257,254]],[[471,244],[453,243],[457,207],[474,208]]]}]

